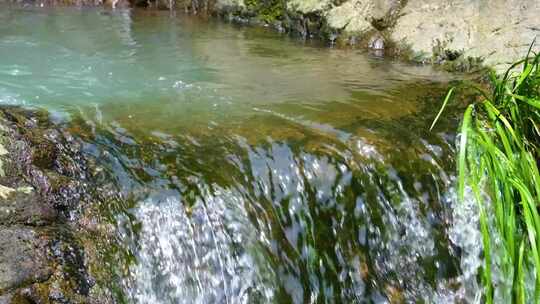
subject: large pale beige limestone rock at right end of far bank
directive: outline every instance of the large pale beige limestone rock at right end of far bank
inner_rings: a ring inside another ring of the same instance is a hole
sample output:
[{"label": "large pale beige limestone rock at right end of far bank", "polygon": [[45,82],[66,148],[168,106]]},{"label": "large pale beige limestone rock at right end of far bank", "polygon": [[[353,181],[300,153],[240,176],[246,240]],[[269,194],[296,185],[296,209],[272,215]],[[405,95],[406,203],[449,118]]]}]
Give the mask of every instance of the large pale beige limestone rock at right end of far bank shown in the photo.
[{"label": "large pale beige limestone rock at right end of far bank", "polygon": [[538,16],[537,0],[409,0],[391,38],[425,56],[454,50],[495,66],[521,58],[540,38]]}]

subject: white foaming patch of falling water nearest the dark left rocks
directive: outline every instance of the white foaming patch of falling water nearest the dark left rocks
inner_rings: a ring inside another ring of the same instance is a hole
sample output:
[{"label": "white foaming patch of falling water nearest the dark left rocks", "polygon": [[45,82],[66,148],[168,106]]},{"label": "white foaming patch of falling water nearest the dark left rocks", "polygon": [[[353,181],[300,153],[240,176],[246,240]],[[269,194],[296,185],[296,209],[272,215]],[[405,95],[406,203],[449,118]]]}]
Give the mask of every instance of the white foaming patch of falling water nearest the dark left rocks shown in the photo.
[{"label": "white foaming patch of falling water nearest the dark left rocks", "polygon": [[262,277],[271,272],[250,250],[257,236],[239,196],[218,189],[203,197],[190,210],[170,191],[135,210],[142,226],[126,290],[136,303],[249,303],[255,292],[263,303],[272,298]]}]

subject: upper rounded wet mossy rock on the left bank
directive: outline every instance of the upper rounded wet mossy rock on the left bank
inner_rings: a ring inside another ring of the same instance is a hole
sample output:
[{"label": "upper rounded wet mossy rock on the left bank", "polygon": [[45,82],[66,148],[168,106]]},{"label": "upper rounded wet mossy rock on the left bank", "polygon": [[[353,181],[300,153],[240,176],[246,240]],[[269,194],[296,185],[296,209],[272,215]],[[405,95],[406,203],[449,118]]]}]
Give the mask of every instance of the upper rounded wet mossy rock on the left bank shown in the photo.
[{"label": "upper rounded wet mossy rock on the left bank", "polygon": [[[46,114],[4,110],[12,151],[6,175],[24,177],[43,202],[70,217],[86,194],[86,165],[80,146],[51,126]],[[11,159],[11,165],[10,165]],[[1,179],[0,179],[1,181]]]}]

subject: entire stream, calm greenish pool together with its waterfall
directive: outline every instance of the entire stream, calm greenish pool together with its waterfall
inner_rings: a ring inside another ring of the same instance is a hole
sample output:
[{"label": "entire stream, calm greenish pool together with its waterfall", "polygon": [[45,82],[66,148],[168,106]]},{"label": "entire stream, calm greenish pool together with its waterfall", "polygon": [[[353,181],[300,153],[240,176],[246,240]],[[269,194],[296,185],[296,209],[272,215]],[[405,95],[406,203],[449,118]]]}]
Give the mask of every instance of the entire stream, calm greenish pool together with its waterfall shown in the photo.
[{"label": "entire stream, calm greenish pool together with its waterfall", "polygon": [[429,131],[460,76],[305,44],[170,12],[0,6],[0,102],[48,109],[116,195],[119,302],[478,300],[457,115]]}]

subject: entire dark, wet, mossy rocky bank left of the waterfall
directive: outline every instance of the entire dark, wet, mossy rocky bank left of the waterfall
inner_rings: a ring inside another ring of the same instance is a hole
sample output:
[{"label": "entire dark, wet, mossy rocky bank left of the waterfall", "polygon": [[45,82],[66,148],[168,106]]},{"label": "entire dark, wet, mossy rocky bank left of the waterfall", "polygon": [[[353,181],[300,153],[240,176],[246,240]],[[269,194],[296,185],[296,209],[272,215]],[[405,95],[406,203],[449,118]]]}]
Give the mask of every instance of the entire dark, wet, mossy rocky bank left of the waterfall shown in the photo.
[{"label": "entire dark, wet, mossy rocky bank left of the waterfall", "polygon": [[0,108],[0,303],[108,302],[88,272],[88,172],[45,112]]}]

